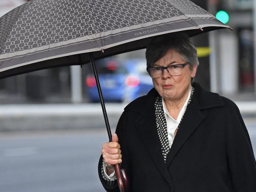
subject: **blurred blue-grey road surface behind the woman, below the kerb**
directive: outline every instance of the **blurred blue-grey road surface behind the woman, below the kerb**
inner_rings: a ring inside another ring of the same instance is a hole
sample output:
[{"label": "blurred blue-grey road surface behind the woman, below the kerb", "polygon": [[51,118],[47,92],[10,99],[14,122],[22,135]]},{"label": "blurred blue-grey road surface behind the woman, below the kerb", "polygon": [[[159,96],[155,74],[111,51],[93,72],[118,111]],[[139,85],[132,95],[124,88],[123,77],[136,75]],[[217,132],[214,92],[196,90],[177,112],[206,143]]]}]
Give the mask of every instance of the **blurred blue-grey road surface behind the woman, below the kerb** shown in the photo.
[{"label": "blurred blue-grey road surface behind the woman, below the kerb", "polygon": [[[256,119],[245,119],[256,151]],[[97,175],[104,129],[1,134],[0,192],[103,192]]]}]

